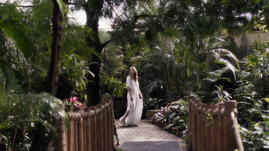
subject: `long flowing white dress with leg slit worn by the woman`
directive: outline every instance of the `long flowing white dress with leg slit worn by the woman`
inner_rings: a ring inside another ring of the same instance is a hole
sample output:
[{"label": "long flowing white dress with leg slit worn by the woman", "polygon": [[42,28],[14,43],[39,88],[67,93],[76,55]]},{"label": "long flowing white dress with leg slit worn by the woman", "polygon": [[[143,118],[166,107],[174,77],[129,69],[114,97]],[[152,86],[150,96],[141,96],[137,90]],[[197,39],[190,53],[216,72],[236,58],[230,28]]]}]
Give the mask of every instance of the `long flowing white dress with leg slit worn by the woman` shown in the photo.
[{"label": "long flowing white dress with leg slit worn by the woman", "polygon": [[[128,86],[131,90],[133,101],[131,101],[131,96],[128,92],[127,94],[127,111],[130,110],[129,115],[125,119],[125,125],[124,126],[135,126],[140,122],[141,115],[142,115],[142,109],[143,109],[143,100],[139,98],[138,88],[139,84],[138,82],[134,82],[134,80],[131,80],[131,78],[128,76],[126,80]],[[124,116],[126,115],[124,114]],[[124,117],[122,116],[120,120]]]}]

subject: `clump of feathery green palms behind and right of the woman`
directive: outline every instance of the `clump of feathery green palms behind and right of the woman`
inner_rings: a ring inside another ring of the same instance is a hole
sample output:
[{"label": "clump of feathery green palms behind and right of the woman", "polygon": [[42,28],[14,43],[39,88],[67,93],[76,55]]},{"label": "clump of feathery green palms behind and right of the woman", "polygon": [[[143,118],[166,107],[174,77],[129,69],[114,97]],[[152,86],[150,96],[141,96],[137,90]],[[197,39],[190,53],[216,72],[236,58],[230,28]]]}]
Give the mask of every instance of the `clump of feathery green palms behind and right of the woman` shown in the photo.
[{"label": "clump of feathery green palms behind and right of the woman", "polygon": [[147,60],[142,69],[147,71],[147,77],[142,78],[145,82],[143,93],[150,96],[153,92],[162,92],[165,100],[190,95],[200,99],[200,96],[211,93],[211,84],[231,82],[230,78],[223,77],[224,73],[231,74],[230,77],[235,80],[239,61],[225,49],[228,43],[225,36],[203,39],[201,45],[195,46],[195,54],[191,53],[183,35],[160,39],[159,45],[145,57]]}]

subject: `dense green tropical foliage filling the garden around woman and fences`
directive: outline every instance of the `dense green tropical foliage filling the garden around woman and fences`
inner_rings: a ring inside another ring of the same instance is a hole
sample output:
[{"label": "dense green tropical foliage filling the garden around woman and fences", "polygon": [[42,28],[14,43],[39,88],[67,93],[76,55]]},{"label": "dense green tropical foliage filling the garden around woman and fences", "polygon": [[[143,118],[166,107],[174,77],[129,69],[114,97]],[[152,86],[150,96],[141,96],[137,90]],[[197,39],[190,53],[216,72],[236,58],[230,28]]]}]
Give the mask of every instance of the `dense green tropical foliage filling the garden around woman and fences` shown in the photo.
[{"label": "dense green tropical foliage filling the garden around woman and fences", "polygon": [[[268,150],[269,43],[245,57],[235,41],[268,29],[268,1],[0,2],[0,140],[8,150],[50,150],[61,106],[124,97],[130,66],[139,71],[144,113],[162,109],[155,119],[166,128],[187,128],[181,98],[236,99],[245,149]],[[69,17],[79,10],[85,26]],[[114,18],[114,30],[99,30],[100,17]]]}]

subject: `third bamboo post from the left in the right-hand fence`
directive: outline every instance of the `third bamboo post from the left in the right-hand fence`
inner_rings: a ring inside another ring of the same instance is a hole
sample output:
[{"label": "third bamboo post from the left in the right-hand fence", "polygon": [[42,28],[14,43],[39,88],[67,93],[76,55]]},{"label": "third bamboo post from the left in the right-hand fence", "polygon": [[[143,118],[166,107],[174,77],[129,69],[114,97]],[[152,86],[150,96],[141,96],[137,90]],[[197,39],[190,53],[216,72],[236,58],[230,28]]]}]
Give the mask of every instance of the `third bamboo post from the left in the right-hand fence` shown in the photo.
[{"label": "third bamboo post from the left in the right-hand fence", "polygon": [[198,151],[202,151],[203,147],[202,147],[202,119],[201,119],[201,105],[202,103],[197,103],[196,105],[196,110],[197,110],[197,150]]}]

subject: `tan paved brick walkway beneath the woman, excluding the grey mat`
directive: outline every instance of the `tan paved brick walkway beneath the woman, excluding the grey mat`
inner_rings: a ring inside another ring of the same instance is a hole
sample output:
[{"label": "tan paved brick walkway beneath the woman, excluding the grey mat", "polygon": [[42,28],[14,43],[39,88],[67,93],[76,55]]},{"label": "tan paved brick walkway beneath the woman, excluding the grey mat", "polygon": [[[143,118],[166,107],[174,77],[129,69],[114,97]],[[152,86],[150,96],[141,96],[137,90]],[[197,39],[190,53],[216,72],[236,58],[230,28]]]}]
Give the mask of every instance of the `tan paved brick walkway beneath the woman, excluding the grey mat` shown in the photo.
[{"label": "tan paved brick walkway beneath the woman, excluding the grey mat", "polygon": [[155,124],[149,123],[148,119],[142,119],[138,126],[124,127],[120,120],[116,119],[116,127],[119,139],[119,146],[122,148],[124,141],[153,141],[153,140],[177,140],[181,151],[187,151],[186,142],[176,135],[173,135]]}]

